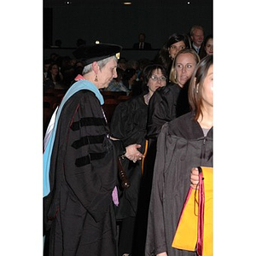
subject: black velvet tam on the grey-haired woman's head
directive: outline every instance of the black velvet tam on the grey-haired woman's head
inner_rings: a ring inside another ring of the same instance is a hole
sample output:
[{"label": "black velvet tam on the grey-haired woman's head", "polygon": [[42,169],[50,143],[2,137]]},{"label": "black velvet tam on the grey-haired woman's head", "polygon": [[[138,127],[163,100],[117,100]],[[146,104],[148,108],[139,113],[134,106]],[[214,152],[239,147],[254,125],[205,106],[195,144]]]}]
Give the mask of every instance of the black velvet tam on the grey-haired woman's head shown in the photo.
[{"label": "black velvet tam on the grey-haired woman's head", "polygon": [[116,55],[122,47],[117,44],[89,44],[81,45],[73,51],[77,59],[84,61],[84,65],[89,65],[94,61],[102,61],[110,56]]}]

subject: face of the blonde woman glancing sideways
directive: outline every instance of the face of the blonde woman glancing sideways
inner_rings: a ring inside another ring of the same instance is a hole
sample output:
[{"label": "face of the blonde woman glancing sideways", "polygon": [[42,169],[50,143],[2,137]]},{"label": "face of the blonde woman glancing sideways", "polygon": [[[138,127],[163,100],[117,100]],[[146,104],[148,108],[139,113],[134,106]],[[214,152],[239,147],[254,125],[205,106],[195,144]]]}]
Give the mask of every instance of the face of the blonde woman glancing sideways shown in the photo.
[{"label": "face of the blonde woman glancing sideways", "polygon": [[175,72],[177,84],[183,87],[189,79],[191,79],[192,73],[196,67],[196,61],[194,55],[191,53],[184,53],[177,56],[175,63]]}]

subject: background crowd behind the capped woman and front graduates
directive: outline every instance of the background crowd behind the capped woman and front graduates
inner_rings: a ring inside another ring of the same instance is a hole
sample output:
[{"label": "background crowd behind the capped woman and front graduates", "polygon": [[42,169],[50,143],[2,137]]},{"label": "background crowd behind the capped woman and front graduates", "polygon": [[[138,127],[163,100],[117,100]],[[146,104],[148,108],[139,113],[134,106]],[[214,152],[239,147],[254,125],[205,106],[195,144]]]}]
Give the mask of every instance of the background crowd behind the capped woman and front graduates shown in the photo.
[{"label": "background crowd behind the capped woman and front graduates", "polygon": [[[134,95],[139,95],[142,93],[143,68],[149,64],[157,63],[164,66],[169,75],[172,61],[181,49],[195,49],[201,59],[206,55],[213,54],[212,35],[207,35],[205,38],[202,26],[193,26],[189,35],[186,33],[172,33],[153,60],[148,58],[126,60],[121,56],[118,61],[118,78],[114,78],[108,88],[104,90],[125,91],[127,95],[132,91]],[[139,34],[138,40],[139,43],[134,44],[132,49],[140,49],[139,44],[149,44],[144,41],[145,34],[143,32]],[[86,44],[85,41],[83,42],[84,44],[77,44],[78,47]],[[151,47],[143,47],[143,49],[151,49]],[[48,59],[44,60],[44,91],[49,88],[67,90],[73,84],[76,76],[82,74],[83,68],[84,63],[81,60],[52,53]],[[133,76],[135,73],[136,75]]]}]

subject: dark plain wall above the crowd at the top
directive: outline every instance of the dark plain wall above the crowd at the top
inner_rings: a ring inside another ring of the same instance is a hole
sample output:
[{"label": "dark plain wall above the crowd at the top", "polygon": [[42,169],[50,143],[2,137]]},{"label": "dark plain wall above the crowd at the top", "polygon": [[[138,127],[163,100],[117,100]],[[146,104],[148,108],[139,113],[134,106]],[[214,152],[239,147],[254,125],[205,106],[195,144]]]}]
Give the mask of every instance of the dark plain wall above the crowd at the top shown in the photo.
[{"label": "dark plain wall above the crowd at the top", "polygon": [[[212,0],[44,0],[44,57],[61,39],[61,55],[70,55],[79,38],[87,44],[120,44],[131,49],[139,32],[160,49],[173,32],[189,33],[199,24],[212,33]],[[129,55],[129,52],[126,55]],[[149,54],[150,55],[150,54]]]}]

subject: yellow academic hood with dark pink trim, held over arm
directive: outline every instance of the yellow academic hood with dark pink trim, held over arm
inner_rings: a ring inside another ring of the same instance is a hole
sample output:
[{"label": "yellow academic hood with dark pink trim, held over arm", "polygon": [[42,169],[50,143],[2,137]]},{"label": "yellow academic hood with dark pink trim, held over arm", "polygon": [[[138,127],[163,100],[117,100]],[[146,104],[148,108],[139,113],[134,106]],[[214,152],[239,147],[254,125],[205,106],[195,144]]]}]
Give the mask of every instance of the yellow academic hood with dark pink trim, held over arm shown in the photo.
[{"label": "yellow academic hood with dark pink trim, held over arm", "polygon": [[[202,186],[199,189],[189,189],[189,193],[184,202],[183,211],[180,216],[176,234],[172,241],[172,247],[187,251],[198,250],[198,241],[201,241],[201,250],[198,251],[201,256],[212,256],[212,167],[199,167],[202,171]],[[201,189],[203,191],[201,191]],[[200,193],[202,196],[200,196]],[[202,198],[202,199],[201,199]],[[203,209],[199,209],[202,200]],[[203,211],[201,211],[203,210]],[[203,223],[198,221],[199,212],[203,212],[201,219]],[[200,224],[203,225],[201,237],[198,232]]]}]

